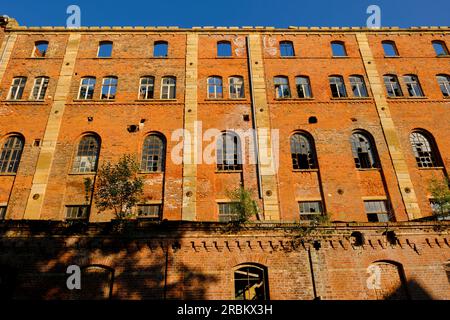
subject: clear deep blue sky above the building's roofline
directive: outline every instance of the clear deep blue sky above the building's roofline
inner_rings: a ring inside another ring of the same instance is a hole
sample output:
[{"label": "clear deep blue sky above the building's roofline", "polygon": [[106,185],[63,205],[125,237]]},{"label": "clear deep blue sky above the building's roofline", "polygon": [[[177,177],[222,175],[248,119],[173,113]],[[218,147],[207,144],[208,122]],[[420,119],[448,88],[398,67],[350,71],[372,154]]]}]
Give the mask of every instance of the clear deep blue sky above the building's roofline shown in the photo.
[{"label": "clear deep blue sky above the building's roofline", "polygon": [[383,26],[449,26],[449,0],[1,0],[26,26],[62,26],[70,4],[82,26],[364,26],[377,4]]}]

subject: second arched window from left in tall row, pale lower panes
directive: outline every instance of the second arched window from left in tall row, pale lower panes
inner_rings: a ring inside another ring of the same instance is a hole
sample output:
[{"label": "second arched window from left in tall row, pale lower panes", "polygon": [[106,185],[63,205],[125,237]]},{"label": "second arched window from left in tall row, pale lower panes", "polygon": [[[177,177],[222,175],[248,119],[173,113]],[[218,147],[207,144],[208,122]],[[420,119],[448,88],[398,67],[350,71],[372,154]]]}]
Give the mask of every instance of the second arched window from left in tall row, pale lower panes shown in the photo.
[{"label": "second arched window from left in tall row, pale lower panes", "polygon": [[72,172],[90,173],[97,171],[100,142],[93,134],[85,135],[78,143],[75,158],[73,160]]}]

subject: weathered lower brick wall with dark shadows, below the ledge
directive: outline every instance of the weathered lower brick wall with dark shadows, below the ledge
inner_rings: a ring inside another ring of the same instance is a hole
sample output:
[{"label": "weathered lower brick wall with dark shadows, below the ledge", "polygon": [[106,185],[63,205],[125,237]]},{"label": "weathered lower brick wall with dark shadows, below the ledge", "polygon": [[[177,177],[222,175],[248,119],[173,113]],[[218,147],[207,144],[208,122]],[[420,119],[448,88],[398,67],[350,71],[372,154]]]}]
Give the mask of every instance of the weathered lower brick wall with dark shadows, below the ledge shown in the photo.
[{"label": "weathered lower brick wall with dark shadows, below the ledge", "polygon": [[[113,299],[232,300],[234,270],[257,264],[267,268],[272,300],[450,299],[448,223],[312,229],[168,223],[129,226],[121,233],[110,227],[97,224],[73,233],[73,227],[71,232],[55,223],[4,222],[0,271],[9,280],[0,285],[0,295],[94,299],[108,297],[110,289]],[[395,232],[395,242],[387,241],[386,230]],[[355,231],[364,237],[362,246],[352,239]],[[85,269],[97,273],[85,271],[82,290],[71,292],[69,265],[104,269]],[[369,288],[374,265],[380,278]]]}]

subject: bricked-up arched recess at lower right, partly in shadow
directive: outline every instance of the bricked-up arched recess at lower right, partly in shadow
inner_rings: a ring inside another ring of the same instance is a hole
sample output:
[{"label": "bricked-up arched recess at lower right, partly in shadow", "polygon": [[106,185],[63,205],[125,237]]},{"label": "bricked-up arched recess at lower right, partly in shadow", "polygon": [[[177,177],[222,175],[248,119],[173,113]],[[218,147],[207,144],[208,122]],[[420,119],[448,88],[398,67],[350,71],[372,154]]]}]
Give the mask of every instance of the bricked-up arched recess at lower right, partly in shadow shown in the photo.
[{"label": "bricked-up arched recess at lower right, partly in shadow", "polygon": [[410,300],[403,265],[396,261],[379,260],[367,268],[367,290],[371,300]]}]

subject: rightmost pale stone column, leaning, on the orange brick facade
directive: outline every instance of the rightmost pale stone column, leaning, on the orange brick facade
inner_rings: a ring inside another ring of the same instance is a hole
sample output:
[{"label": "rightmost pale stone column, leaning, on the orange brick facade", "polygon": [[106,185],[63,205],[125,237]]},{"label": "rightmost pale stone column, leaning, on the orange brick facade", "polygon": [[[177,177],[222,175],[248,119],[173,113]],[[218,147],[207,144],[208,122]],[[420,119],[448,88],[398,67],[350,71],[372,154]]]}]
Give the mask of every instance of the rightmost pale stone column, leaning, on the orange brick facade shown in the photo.
[{"label": "rightmost pale stone column, leaning, on the orange brick facade", "polygon": [[[369,46],[369,40],[365,33],[357,33],[359,50],[366,68],[367,78],[372,88],[375,105],[377,107],[378,116],[381,122],[381,128],[388,145],[389,154],[391,156],[395,175],[397,178],[400,193],[406,207],[406,212],[410,220],[421,217],[419,204],[416,193],[409,175],[408,166],[405,161],[405,156],[401,149],[400,139],[391,117],[389,104],[385,96],[384,84],[376,66],[375,59]],[[405,190],[409,190],[406,192]]]}]

